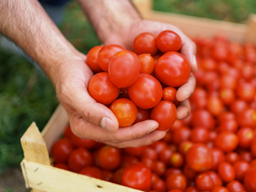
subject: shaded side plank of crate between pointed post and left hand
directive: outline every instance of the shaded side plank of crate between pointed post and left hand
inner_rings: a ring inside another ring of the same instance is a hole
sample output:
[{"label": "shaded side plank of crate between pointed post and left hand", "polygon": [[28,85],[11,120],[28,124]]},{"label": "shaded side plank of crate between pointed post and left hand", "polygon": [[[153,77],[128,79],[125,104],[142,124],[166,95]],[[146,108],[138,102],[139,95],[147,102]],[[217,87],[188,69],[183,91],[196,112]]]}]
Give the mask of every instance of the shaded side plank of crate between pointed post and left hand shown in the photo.
[{"label": "shaded side plank of crate between pointed post and left hand", "polygon": [[61,134],[64,132],[64,129],[69,123],[68,115],[62,105],[59,105],[49,122],[45,125],[42,130],[42,137],[46,142],[48,151],[50,152],[56,139],[60,138]]}]

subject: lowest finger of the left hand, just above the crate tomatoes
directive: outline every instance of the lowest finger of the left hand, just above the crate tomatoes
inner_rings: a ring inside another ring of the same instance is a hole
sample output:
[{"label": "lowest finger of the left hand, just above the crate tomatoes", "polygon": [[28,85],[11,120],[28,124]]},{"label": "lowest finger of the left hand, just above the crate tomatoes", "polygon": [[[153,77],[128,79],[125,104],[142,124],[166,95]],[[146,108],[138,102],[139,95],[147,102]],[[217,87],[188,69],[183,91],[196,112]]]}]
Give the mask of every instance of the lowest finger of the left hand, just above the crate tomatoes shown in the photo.
[{"label": "lowest finger of the left hand, just above the crate tomatoes", "polygon": [[150,145],[157,140],[161,140],[163,137],[165,137],[165,135],[166,135],[165,131],[155,130],[150,134],[147,134],[144,138],[141,138],[141,139],[130,140],[130,141],[121,142],[121,143],[111,143],[111,142],[105,142],[105,143],[118,148],[140,147],[144,145]]}]

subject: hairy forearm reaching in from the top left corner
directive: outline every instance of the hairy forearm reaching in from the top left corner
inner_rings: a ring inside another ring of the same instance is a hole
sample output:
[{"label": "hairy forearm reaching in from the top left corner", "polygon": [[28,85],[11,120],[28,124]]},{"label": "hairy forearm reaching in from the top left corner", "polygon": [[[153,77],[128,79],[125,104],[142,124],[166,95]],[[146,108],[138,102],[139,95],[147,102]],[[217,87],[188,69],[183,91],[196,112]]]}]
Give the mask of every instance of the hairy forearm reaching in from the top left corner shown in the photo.
[{"label": "hairy forearm reaching in from the top left corner", "polygon": [[18,44],[53,80],[57,65],[75,49],[37,0],[0,0],[0,33]]}]

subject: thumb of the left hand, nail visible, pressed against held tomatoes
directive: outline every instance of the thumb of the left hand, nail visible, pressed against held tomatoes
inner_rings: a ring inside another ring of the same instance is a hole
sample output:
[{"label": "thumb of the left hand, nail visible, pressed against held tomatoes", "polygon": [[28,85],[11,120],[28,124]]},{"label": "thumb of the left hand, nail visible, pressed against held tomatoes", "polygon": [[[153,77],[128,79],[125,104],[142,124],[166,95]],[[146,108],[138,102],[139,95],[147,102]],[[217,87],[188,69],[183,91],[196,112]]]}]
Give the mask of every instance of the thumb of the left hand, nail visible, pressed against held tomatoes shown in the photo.
[{"label": "thumb of the left hand, nail visible, pressed against held tomatoes", "polygon": [[73,108],[87,121],[109,132],[116,132],[119,124],[112,111],[105,105],[97,103],[87,91],[75,94]]}]

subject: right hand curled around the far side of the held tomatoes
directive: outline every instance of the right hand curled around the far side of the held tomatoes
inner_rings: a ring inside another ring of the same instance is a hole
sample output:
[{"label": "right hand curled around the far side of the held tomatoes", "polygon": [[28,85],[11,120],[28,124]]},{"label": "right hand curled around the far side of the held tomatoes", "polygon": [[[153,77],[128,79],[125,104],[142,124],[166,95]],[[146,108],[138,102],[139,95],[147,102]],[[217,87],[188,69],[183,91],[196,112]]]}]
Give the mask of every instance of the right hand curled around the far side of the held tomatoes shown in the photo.
[{"label": "right hand curled around the far side of the held tomatoes", "polygon": [[[133,50],[133,39],[143,32],[149,32],[154,35],[158,35],[160,32],[165,30],[171,30],[180,35],[182,39],[181,53],[186,57],[190,64],[192,72],[197,71],[197,60],[196,60],[196,45],[188,38],[183,32],[174,25],[163,23],[159,21],[142,20],[138,19],[131,25],[121,29],[118,34],[111,34],[105,41],[105,44],[118,44],[122,45],[128,50]],[[187,100],[194,92],[196,86],[196,80],[194,75],[191,73],[186,84],[179,87],[176,93],[176,99],[180,101],[180,105],[177,107],[177,118],[184,119],[190,114],[190,104]]]}]

